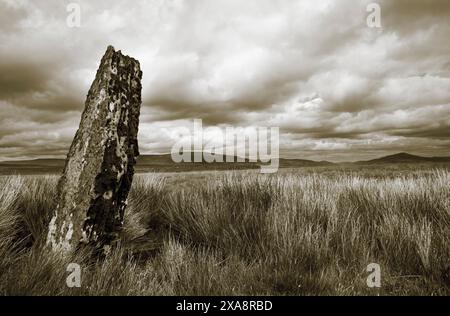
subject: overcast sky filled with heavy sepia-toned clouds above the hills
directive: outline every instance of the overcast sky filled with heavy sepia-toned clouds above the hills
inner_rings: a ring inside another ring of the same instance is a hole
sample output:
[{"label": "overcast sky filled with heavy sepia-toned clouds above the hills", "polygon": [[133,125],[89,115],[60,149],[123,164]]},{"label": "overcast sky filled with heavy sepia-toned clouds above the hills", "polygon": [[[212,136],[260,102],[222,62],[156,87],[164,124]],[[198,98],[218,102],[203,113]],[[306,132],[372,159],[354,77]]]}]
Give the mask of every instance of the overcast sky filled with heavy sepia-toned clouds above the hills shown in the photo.
[{"label": "overcast sky filled with heavy sepia-toned clouds above the hills", "polygon": [[[69,28],[67,4],[81,6]],[[143,70],[143,154],[278,126],[281,156],[450,156],[450,1],[0,0],[0,160],[64,157],[108,45]]]}]

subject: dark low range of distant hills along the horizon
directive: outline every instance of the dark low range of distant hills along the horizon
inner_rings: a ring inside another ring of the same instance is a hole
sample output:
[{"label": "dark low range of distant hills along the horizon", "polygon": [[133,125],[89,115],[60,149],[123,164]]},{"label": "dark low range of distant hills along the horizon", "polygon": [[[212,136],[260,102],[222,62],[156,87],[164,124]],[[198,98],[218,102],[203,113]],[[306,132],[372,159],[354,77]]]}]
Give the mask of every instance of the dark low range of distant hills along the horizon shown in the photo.
[{"label": "dark low range of distant hills along the horizon", "polygon": [[[261,163],[236,162],[236,157],[232,157],[235,162],[182,162],[172,161],[170,154],[166,155],[142,155],[137,159],[136,172],[183,172],[183,171],[205,171],[205,170],[241,170],[260,169]],[[226,161],[226,157],[224,157]],[[34,159],[21,161],[0,162],[0,174],[59,174],[64,168],[64,159]],[[313,161],[306,159],[280,159],[280,168],[305,168],[305,167],[326,167],[333,165],[377,165],[377,164],[431,164],[450,163],[450,157],[421,157],[408,153],[398,153],[368,161],[348,162],[335,164],[328,161]]]}]

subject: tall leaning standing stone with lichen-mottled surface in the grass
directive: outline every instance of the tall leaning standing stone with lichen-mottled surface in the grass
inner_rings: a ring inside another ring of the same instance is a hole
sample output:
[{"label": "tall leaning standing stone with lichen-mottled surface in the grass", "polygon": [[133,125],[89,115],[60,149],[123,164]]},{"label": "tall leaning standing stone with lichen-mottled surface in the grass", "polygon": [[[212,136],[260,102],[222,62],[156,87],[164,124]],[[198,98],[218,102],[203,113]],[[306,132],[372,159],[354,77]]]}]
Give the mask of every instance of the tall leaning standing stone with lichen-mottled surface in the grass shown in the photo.
[{"label": "tall leaning standing stone with lichen-mottled surface in the grass", "polygon": [[70,252],[118,238],[139,155],[139,62],[109,46],[87,95],[57,188],[47,244]]}]

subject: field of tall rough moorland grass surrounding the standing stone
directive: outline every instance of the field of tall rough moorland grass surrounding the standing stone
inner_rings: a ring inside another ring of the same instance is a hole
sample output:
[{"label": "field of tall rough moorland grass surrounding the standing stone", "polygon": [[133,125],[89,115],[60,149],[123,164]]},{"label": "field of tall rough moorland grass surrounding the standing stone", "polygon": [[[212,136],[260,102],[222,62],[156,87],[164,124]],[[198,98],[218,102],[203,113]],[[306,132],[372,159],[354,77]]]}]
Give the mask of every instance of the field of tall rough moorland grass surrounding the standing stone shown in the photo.
[{"label": "field of tall rough moorland grass surrounding the standing stone", "polygon": [[[446,169],[138,175],[102,261],[44,246],[56,182],[0,177],[2,295],[450,294]],[[81,288],[66,286],[70,262]]]}]

